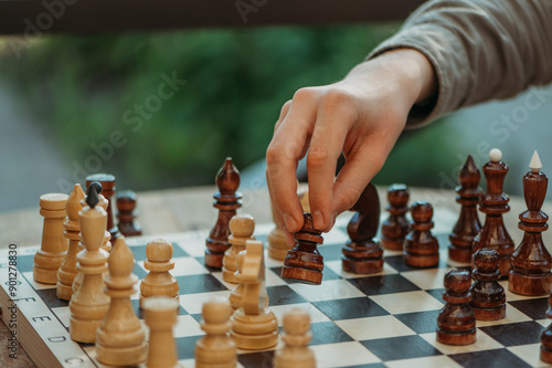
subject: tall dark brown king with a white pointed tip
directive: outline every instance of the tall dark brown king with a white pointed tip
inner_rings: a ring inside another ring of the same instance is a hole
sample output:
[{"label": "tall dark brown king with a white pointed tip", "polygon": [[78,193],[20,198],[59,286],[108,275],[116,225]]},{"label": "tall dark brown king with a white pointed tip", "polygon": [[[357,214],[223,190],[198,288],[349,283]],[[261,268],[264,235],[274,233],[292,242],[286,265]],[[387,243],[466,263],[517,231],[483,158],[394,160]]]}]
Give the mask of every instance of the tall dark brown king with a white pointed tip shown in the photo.
[{"label": "tall dark brown king with a white pointed tip", "polygon": [[542,242],[542,232],[549,228],[549,217],[541,208],[549,179],[541,171],[542,164],[537,151],[529,167],[531,171],[523,177],[527,211],[519,215],[518,224],[523,230],[523,239],[511,257],[508,288],[521,295],[548,295],[552,285],[552,256]]}]

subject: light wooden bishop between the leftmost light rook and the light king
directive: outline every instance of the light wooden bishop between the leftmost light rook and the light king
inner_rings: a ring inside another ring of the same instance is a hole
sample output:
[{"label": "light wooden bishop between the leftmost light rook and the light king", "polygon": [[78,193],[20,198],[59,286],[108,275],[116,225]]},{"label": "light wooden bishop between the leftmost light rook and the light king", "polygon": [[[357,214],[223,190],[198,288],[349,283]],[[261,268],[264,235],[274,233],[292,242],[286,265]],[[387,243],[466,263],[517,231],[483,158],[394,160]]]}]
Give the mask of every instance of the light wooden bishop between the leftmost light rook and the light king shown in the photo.
[{"label": "light wooden bishop between the leftmost light rook and the light king", "polygon": [[65,228],[64,235],[68,240],[68,249],[63,263],[57,271],[57,285],[55,294],[60,299],[71,301],[73,295],[73,281],[77,275],[76,254],[78,253],[78,236],[81,228],[78,225],[78,212],[81,211],[81,201],[84,199],[84,191],[79,183],[76,183],[67,198],[65,210],[67,220],[63,223]]}]

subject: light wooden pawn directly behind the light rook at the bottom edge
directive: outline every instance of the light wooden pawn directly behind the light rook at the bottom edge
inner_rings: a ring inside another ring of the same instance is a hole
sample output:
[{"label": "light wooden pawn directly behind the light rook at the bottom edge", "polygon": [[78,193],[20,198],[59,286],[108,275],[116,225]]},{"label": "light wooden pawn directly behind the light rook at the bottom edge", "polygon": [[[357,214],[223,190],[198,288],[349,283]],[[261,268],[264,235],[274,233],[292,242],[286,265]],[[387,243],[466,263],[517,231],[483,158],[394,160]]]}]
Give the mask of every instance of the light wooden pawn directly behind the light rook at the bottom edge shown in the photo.
[{"label": "light wooden pawn directly behind the light rook at the bottom edge", "polygon": [[172,260],[172,244],[164,239],[156,239],[146,245],[146,261],[144,267],[149,273],[140,283],[140,307],[152,296],[167,296],[180,301],[177,278],[170,274],[174,269]]}]

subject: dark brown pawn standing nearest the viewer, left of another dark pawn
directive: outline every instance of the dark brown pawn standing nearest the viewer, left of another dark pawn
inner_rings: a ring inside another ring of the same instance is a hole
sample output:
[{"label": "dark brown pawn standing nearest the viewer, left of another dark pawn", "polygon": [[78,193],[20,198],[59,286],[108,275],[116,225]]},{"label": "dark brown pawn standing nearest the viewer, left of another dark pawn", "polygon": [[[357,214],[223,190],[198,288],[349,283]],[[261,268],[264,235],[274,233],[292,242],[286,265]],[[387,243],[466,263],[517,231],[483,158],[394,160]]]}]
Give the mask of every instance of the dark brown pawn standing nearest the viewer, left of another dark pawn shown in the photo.
[{"label": "dark brown pawn standing nearest the viewer, left of another dark pawn", "polygon": [[448,345],[469,345],[476,341],[476,316],[469,302],[471,277],[469,271],[449,270],[445,274],[446,305],[437,317],[437,341]]}]

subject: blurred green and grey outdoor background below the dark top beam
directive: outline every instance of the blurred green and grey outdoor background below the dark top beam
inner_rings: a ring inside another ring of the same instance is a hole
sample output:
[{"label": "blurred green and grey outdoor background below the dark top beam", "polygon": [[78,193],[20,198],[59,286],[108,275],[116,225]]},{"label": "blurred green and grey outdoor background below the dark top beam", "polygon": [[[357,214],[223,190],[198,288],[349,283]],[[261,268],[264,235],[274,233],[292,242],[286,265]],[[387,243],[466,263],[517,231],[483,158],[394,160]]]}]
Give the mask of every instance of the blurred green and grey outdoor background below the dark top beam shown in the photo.
[{"label": "blurred green and grey outdoor background below the dark top beam", "polygon": [[[54,34],[17,52],[0,38],[0,212],[94,172],[136,191],[213,185],[226,156],[258,186],[282,105],[342,78],[400,24]],[[499,147],[521,194],[533,150],[552,175],[551,115],[539,88],[406,132],[374,182],[453,189],[468,154],[481,166]]]}]

